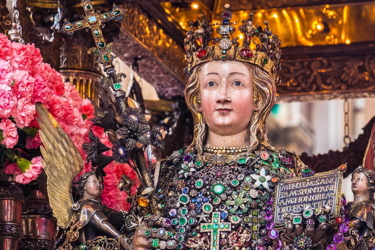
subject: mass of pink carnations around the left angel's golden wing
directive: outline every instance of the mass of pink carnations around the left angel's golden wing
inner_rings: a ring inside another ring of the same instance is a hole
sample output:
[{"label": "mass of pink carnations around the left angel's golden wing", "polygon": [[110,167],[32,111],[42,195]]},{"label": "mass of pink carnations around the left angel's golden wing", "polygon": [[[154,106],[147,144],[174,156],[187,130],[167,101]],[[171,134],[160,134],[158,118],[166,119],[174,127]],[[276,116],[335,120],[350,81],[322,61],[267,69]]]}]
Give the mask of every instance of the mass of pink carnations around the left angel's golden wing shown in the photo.
[{"label": "mass of pink carnations around the left angel's golden wing", "polygon": [[[10,42],[0,33],[0,47],[0,169],[15,175],[15,181],[22,184],[30,183],[42,172],[36,102],[51,112],[86,158],[82,145],[89,140],[89,119],[94,117],[90,101],[83,100],[70,83],[63,83],[61,75],[43,63],[40,50],[33,44]],[[106,137],[103,130],[94,132]],[[135,174],[126,164],[110,165],[108,169],[113,172],[105,177],[103,202],[115,209],[127,208],[126,194],[116,184],[122,172]],[[84,171],[89,169],[86,165]]]}]

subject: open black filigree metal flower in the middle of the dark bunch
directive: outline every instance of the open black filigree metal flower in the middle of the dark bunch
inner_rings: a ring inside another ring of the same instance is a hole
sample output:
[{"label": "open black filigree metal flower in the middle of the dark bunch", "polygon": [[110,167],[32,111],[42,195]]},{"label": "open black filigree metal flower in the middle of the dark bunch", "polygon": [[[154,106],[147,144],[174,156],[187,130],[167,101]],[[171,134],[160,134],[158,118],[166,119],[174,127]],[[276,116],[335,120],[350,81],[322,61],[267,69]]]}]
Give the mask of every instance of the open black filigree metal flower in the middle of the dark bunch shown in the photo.
[{"label": "open black filigree metal flower in the middle of the dark bunch", "polygon": [[116,133],[123,137],[126,142],[126,149],[132,150],[135,148],[136,143],[142,143],[144,145],[150,144],[150,139],[145,134],[150,131],[150,126],[137,123],[133,119],[128,120],[127,127],[119,128]]}]

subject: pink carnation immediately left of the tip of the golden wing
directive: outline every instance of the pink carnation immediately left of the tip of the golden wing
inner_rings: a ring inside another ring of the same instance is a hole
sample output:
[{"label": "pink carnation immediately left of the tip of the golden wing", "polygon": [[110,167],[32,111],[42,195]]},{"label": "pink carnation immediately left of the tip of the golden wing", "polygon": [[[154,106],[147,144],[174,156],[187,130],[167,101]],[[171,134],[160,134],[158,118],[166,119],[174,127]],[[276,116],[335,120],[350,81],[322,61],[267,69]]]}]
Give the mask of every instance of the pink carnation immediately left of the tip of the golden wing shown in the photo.
[{"label": "pink carnation immediately left of the tip of the golden wing", "polygon": [[27,127],[35,117],[35,105],[26,98],[17,101],[17,106],[10,111],[18,128]]}]

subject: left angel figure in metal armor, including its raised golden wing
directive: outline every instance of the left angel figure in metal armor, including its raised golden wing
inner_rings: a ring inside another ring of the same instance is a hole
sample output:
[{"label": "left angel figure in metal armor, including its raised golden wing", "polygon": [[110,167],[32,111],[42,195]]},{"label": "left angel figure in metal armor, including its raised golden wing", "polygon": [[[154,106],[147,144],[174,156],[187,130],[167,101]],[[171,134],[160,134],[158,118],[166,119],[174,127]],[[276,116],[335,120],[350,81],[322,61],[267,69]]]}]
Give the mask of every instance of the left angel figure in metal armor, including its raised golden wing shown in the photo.
[{"label": "left angel figure in metal armor, including its raised golden wing", "polygon": [[95,172],[84,173],[78,184],[80,199],[73,202],[72,183],[83,169],[83,159],[46,108],[36,104],[36,110],[40,116],[37,118],[44,145],[41,151],[48,176],[49,201],[57,224],[65,229],[58,249],[81,249],[82,246],[91,249],[104,245],[113,247],[111,249],[120,249],[121,246],[130,250],[128,239],[119,232],[124,222],[123,214],[101,204],[102,176]]}]

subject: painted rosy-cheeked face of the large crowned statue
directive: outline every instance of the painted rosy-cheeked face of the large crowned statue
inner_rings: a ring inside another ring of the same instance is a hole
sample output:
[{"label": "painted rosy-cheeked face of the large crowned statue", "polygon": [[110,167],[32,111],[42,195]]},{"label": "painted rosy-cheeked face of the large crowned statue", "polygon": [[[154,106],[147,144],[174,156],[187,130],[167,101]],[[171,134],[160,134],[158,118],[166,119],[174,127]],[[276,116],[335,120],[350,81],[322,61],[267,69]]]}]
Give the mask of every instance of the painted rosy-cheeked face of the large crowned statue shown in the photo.
[{"label": "painted rosy-cheeked face of the large crowned statue", "polygon": [[251,76],[245,63],[211,61],[202,66],[199,78],[201,105],[210,131],[228,136],[247,130],[254,112]]}]

